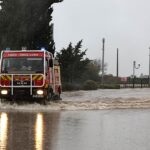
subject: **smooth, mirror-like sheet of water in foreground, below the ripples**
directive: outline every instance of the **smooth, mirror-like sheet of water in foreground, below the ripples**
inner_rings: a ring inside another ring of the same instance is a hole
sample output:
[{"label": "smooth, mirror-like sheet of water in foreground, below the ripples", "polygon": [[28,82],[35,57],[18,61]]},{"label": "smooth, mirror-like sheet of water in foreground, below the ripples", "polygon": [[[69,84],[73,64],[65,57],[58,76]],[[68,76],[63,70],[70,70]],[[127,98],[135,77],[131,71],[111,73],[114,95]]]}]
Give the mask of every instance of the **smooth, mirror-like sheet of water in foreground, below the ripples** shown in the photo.
[{"label": "smooth, mirror-like sheet of water in foreground, below the ripples", "polygon": [[0,114],[0,149],[149,150],[149,141],[149,109]]}]

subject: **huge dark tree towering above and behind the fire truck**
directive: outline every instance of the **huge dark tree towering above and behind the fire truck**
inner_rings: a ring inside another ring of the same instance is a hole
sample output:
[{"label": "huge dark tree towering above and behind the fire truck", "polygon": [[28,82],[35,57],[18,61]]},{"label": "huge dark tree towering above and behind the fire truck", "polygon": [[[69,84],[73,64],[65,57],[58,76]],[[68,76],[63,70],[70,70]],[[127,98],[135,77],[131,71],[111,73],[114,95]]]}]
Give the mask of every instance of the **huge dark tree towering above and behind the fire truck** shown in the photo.
[{"label": "huge dark tree towering above and behind the fire truck", "polygon": [[0,49],[40,49],[54,54],[51,5],[62,0],[3,0],[0,10]]}]

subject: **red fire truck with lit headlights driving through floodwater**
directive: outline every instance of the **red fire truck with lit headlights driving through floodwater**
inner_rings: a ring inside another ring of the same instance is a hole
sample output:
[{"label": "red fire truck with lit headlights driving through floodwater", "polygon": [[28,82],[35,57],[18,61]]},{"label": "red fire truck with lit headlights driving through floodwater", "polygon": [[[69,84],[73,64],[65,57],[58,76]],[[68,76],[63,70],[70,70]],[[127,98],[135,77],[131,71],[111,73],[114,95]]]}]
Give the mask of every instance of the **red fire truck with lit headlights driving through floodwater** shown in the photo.
[{"label": "red fire truck with lit headlights driving through floodwater", "polygon": [[38,99],[45,103],[60,98],[60,67],[46,50],[1,52],[0,98]]}]

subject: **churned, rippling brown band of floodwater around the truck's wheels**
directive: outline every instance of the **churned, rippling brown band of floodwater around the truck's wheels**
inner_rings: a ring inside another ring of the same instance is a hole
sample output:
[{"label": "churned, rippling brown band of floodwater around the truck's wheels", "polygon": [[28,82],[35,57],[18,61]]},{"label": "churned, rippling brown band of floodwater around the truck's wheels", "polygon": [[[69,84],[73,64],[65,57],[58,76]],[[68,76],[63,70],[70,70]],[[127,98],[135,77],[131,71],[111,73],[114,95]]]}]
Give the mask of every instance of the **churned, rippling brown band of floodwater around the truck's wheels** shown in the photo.
[{"label": "churned, rippling brown band of floodwater around the truck's wheels", "polygon": [[150,108],[150,89],[120,89],[64,92],[62,101],[10,104],[0,103],[1,110],[52,111],[52,110],[101,110],[116,108]]}]

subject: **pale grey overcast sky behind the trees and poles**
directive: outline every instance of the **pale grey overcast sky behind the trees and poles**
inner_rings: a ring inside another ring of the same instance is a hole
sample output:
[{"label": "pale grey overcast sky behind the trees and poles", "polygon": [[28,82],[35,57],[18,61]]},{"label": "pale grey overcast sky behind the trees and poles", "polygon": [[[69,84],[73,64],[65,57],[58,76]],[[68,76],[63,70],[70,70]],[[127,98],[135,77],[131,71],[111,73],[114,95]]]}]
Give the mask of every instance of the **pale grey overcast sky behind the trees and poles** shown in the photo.
[{"label": "pale grey overcast sky behind the trees and poles", "polygon": [[53,22],[56,51],[83,39],[87,57],[102,57],[106,39],[107,73],[116,75],[119,48],[119,75],[133,73],[133,61],[141,64],[136,75],[149,73],[150,0],[64,0],[54,4]]}]

